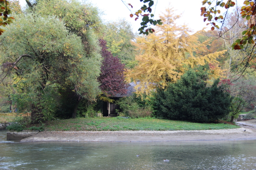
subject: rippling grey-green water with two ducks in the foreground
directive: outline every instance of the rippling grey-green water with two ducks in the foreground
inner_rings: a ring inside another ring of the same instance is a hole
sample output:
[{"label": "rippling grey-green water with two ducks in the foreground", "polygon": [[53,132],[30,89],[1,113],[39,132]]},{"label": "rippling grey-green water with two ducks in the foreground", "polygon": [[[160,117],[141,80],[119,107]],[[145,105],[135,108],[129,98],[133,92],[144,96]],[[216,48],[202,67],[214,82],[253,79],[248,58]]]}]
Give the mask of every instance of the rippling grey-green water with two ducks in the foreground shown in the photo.
[{"label": "rippling grey-green water with two ducks in the foreground", "polygon": [[0,141],[0,170],[256,170],[256,140],[19,143],[0,131]]}]

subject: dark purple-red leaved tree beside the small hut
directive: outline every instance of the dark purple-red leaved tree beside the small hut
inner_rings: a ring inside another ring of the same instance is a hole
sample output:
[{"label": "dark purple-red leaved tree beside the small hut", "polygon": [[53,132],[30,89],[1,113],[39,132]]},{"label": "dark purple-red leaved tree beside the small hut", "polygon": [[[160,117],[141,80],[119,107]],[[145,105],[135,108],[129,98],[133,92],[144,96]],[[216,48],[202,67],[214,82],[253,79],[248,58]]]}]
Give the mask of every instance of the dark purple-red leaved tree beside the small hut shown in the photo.
[{"label": "dark purple-red leaved tree beside the small hut", "polygon": [[125,65],[121,63],[118,57],[113,57],[111,52],[108,51],[105,40],[100,39],[99,44],[102,48],[101,55],[103,58],[101,74],[98,77],[99,88],[107,96],[126,94]]}]

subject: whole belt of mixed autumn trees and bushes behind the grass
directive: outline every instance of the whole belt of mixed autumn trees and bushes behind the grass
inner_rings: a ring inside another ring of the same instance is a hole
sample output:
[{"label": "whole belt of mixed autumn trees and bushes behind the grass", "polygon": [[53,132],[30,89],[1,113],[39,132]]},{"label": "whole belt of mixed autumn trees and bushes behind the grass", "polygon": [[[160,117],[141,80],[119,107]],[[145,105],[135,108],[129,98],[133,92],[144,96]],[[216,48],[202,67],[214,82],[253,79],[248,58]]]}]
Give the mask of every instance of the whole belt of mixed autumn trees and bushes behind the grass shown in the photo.
[{"label": "whole belt of mixed autumn trees and bushes behind the grass", "polygon": [[90,3],[28,2],[22,11],[10,1],[15,21],[0,37],[1,112],[31,113],[32,123],[96,116],[102,102],[115,102],[110,97],[137,80],[136,95],[117,101],[120,115],[233,122],[255,106],[254,61],[239,74],[246,51],[230,48],[246,24],[235,12],[227,15],[225,39],[218,30],[194,33],[177,24],[171,7],[144,36],[124,19],[103,23]]}]

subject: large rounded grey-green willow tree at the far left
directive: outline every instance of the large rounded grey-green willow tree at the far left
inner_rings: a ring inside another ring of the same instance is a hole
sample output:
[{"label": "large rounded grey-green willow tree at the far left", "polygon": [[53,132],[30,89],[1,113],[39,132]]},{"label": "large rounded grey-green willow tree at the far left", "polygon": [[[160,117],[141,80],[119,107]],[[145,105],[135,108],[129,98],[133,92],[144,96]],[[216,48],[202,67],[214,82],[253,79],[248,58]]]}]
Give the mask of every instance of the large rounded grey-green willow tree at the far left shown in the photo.
[{"label": "large rounded grey-green willow tree at the far left", "polygon": [[[16,17],[1,44],[5,73],[16,72],[14,85],[20,111],[31,112],[32,123],[49,119],[58,107],[58,89],[69,86],[82,97],[98,93],[97,58],[84,52],[81,38],[56,17],[26,14]],[[27,20],[33,22],[26,22]]]}]

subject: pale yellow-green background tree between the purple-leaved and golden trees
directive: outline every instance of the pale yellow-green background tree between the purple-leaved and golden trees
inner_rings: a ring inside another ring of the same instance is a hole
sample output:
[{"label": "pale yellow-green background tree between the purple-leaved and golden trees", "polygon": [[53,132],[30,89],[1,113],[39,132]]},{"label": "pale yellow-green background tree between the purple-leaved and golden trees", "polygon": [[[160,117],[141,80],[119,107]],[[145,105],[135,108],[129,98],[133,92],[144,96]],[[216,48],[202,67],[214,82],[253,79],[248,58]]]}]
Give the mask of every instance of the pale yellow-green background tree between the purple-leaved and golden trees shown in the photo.
[{"label": "pale yellow-green background tree between the purple-leaved and golden trees", "polygon": [[133,68],[135,62],[135,45],[132,40],[135,35],[131,24],[124,19],[106,24],[104,40],[107,42],[108,50],[113,56],[117,56],[126,68]]}]

